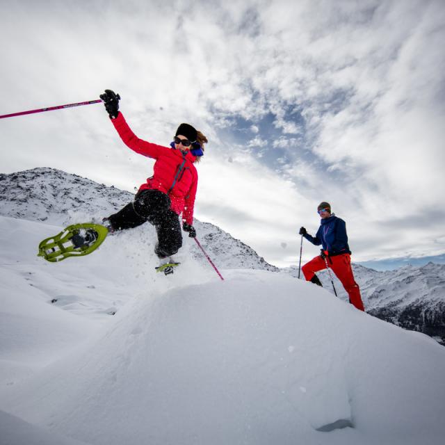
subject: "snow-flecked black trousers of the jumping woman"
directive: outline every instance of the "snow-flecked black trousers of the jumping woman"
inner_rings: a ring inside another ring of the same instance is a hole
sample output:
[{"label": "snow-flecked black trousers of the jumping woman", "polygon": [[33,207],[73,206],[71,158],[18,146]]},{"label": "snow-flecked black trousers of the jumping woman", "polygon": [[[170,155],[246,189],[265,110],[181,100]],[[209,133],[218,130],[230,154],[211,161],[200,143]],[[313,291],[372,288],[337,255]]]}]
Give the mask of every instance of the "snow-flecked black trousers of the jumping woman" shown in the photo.
[{"label": "snow-flecked black trousers of the jumping woman", "polygon": [[131,229],[147,221],[156,227],[158,243],[154,252],[159,258],[170,257],[182,245],[179,216],[170,209],[170,197],[159,190],[143,190],[134,201],[108,216],[114,230]]}]

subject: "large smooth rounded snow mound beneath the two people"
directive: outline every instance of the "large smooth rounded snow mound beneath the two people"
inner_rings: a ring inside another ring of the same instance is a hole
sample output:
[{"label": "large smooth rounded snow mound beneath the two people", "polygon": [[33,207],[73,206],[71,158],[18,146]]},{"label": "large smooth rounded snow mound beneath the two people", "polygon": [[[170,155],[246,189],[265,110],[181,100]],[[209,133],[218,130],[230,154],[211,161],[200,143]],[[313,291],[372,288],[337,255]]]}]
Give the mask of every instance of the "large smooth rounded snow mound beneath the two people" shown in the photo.
[{"label": "large smooth rounded snow mound beneath the two people", "polygon": [[444,371],[423,334],[307,282],[237,270],[138,293],[2,405],[91,444],[438,444]]}]

